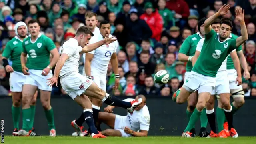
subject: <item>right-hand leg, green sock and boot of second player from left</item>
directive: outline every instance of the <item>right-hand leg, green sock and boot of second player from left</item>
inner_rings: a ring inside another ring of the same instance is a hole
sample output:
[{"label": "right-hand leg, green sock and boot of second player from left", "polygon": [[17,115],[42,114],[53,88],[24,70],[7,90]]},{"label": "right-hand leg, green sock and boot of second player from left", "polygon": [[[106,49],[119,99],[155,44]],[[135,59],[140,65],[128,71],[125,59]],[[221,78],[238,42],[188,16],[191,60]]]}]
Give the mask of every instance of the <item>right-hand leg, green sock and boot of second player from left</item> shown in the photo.
[{"label": "right-hand leg, green sock and boot of second player from left", "polygon": [[54,113],[52,106],[50,105],[51,101],[51,92],[46,90],[40,90],[40,100],[44,108],[44,113],[48,122],[48,127],[50,131],[50,136],[56,136],[55,124],[54,124]]}]

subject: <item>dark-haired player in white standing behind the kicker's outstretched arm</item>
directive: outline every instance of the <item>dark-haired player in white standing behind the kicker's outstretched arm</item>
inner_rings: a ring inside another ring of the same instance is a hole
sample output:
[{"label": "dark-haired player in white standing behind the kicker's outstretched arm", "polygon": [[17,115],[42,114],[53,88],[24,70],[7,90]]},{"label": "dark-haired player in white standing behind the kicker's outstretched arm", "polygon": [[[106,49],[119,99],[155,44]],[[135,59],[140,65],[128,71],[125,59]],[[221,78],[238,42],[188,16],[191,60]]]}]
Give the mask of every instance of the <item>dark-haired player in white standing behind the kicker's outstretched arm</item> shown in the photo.
[{"label": "dark-haired player in white standing behind the kicker's outstretched arm", "polygon": [[[107,34],[110,34],[110,23],[108,21],[102,21],[100,22],[100,34],[93,36],[92,40],[90,40],[90,44],[103,40]],[[87,78],[92,79],[93,82],[104,91],[106,91],[106,74],[109,62],[111,63],[116,76],[114,89],[119,86],[118,60],[116,56],[118,46],[118,42],[115,41],[107,45],[102,45],[92,52],[86,53],[84,64],[86,76]],[[96,124],[102,101],[98,98],[90,99],[92,101],[94,124]],[[88,130],[88,133],[90,133],[90,130]]]}]

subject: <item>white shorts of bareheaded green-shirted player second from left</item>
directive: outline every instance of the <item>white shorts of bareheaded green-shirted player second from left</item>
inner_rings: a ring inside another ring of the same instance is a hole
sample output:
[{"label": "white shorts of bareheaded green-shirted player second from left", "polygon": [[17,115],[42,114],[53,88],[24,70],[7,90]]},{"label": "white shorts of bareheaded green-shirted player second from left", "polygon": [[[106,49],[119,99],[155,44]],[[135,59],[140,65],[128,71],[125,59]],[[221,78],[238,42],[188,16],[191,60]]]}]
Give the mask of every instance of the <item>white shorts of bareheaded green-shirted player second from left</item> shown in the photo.
[{"label": "white shorts of bareheaded green-shirted player second from left", "polygon": [[37,86],[40,90],[52,91],[52,86],[48,86],[47,79],[52,77],[52,70],[47,76],[42,76],[42,70],[28,70],[29,75],[24,84]]}]

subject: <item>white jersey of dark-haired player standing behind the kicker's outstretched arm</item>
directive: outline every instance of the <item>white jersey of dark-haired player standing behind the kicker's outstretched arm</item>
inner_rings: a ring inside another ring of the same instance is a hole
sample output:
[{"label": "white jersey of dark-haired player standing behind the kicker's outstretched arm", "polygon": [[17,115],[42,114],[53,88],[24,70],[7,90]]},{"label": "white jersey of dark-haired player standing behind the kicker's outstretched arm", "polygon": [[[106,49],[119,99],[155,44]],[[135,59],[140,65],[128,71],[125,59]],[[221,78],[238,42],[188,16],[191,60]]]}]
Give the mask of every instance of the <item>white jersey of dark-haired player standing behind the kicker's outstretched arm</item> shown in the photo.
[{"label": "white jersey of dark-haired player standing behind the kicker's outstretched arm", "polygon": [[[112,36],[112,35],[109,35]],[[90,40],[91,43],[98,42],[100,40],[103,40],[103,36],[101,34],[97,35],[97,39]],[[95,40],[95,41],[94,41]],[[106,74],[108,69],[108,63],[110,61],[110,58],[114,52],[116,52],[117,47],[119,46],[118,42],[112,42],[108,45],[104,44],[97,48],[96,50],[93,50],[89,52],[90,54],[93,54],[93,58],[91,61],[91,72],[93,74]]]}]

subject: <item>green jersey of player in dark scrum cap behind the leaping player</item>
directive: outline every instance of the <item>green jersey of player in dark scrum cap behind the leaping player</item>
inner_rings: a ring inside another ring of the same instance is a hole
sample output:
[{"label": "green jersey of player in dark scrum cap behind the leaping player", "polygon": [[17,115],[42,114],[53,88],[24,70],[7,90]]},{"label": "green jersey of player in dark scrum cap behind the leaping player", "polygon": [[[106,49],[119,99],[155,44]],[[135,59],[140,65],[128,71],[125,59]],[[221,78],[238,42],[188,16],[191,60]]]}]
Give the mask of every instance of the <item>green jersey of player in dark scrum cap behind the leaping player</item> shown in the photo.
[{"label": "green jersey of player in dark scrum cap behind the leaping player", "polygon": [[[199,35],[199,32],[188,36],[182,43],[179,53],[186,54],[187,56],[194,56],[196,52],[196,45],[202,37]],[[192,62],[187,62],[186,71],[190,72],[192,70]]]}]

